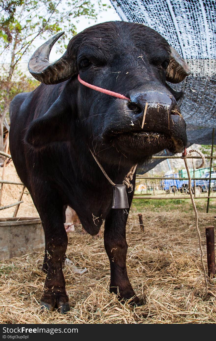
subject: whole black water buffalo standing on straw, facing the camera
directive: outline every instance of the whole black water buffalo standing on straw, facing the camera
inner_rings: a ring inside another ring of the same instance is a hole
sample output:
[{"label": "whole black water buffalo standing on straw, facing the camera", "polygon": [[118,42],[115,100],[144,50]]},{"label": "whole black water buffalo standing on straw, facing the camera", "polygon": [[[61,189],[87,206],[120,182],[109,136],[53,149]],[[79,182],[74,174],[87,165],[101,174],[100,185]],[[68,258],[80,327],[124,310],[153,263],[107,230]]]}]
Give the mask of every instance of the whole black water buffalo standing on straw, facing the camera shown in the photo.
[{"label": "whole black water buffalo standing on straw, facing the camera", "polygon": [[[10,108],[11,155],[45,233],[47,277],[41,305],[51,311],[70,309],[62,273],[68,243],[65,205],[77,212],[91,235],[105,220],[110,291],[119,299],[133,297],[131,302],[139,305],[126,269],[129,210],[112,209],[113,186],[92,153],[119,184],[133,165],[144,164],[153,154],[183,151],[186,124],[175,100],[178,94],[166,80],[179,83],[190,72],[159,33],[140,24],[111,21],[87,28],[70,40],[59,60],[49,63],[50,50],[61,34],[29,61],[29,71],[44,84],[17,95]],[[89,89],[78,81],[78,74],[129,100]]]}]

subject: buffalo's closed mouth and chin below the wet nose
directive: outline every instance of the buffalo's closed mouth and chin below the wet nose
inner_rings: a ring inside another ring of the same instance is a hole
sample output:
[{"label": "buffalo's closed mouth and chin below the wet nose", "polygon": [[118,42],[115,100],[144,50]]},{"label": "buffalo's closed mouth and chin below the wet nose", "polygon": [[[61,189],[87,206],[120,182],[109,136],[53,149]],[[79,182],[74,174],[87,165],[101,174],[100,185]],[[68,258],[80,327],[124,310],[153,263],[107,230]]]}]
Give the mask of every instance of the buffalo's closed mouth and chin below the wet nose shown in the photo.
[{"label": "buffalo's closed mouth and chin below the wet nose", "polygon": [[164,149],[172,153],[183,152],[185,143],[179,137],[154,131],[113,132],[113,146],[124,152],[150,156]]}]

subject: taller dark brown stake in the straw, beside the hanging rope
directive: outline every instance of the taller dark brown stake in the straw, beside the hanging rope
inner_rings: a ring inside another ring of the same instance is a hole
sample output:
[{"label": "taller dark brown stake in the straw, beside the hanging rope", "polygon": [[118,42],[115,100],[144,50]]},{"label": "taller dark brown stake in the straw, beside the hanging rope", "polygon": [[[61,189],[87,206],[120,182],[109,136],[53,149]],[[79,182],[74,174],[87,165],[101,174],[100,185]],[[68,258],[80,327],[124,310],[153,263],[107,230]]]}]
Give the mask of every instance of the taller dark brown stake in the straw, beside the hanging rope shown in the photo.
[{"label": "taller dark brown stake in the straw, beside the hanging rope", "polygon": [[214,277],[216,274],[214,226],[208,226],[205,228],[205,236],[207,247],[208,276]]}]

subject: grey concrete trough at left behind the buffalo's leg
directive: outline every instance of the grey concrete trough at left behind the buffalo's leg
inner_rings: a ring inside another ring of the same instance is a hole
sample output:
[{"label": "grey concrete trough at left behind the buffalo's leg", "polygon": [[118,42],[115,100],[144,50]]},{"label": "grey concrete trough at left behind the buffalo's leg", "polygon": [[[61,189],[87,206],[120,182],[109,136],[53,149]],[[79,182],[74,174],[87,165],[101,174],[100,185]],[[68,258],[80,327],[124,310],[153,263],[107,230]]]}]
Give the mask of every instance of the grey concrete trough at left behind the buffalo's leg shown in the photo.
[{"label": "grey concrete trough at left behind the buffalo's leg", "polygon": [[44,232],[39,218],[0,218],[0,259],[44,251]]}]

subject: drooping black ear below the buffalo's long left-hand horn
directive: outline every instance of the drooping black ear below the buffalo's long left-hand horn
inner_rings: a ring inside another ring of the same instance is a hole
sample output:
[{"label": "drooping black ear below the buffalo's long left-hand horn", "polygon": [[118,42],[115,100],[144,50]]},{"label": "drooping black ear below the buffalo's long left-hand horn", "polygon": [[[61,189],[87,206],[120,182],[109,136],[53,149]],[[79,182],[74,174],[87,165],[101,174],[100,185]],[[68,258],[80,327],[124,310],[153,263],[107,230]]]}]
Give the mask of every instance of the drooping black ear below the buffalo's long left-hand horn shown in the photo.
[{"label": "drooping black ear below the buffalo's long left-hand horn", "polygon": [[26,131],[25,142],[35,149],[41,149],[53,142],[69,140],[71,118],[67,113],[69,113],[68,108],[57,100],[42,117],[30,124]]}]

